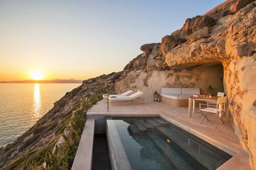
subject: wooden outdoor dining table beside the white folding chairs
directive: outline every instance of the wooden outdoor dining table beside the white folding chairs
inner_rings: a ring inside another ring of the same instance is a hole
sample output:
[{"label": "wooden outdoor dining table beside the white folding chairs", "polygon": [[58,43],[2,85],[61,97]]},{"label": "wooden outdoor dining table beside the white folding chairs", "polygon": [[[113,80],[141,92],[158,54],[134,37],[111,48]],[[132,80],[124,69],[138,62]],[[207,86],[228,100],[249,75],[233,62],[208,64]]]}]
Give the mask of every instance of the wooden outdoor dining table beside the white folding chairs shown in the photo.
[{"label": "wooden outdoor dining table beside the white folding chairs", "polygon": [[188,99],[188,116],[189,116],[189,118],[192,117],[192,113],[195,113],[196,100],[217,101],[218,97],[217,96],[205,97],[204,95],[198,95],[197,97],[192,95],[191,97],[189,97],[189,99]]}]

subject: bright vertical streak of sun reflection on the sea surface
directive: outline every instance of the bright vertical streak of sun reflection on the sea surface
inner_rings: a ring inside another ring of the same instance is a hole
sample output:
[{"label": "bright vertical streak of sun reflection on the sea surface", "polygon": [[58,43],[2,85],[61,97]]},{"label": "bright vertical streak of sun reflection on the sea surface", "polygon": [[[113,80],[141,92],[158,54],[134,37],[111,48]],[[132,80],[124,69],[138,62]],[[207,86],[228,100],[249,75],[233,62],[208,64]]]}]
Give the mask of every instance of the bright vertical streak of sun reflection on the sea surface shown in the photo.
[{"label": "bright vertical streak of sun reflection on the sea surface", "polygon": [[38,83],[35,83],[34,86],[34,103],[33,103],[33,111],[36,119],[39,119],[41,110],[41,94],[40,94],[40,86]]}]

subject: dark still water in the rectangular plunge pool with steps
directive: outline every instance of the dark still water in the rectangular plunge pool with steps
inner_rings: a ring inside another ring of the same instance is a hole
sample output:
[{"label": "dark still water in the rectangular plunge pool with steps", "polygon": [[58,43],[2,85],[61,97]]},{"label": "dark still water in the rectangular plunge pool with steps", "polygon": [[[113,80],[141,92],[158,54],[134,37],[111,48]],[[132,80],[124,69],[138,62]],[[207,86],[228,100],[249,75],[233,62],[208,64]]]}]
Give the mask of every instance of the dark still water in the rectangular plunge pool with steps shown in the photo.
[{"label": "dark still water in the rectangular plunge pool with steps", "polygon": [[232,157],[159,117],[106,119],[132,169],[217,169]]}]

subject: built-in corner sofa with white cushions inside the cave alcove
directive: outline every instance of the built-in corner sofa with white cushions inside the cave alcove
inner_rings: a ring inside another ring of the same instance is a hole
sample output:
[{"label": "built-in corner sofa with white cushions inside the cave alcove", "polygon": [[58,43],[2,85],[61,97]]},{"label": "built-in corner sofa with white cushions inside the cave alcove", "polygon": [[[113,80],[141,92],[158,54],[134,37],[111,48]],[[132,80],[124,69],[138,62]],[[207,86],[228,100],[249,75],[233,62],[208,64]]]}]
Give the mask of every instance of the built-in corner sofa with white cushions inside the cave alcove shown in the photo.
[{"label": "built-in corner sofa with white cushions inside the cave alcove", "polygon": [[188,106],[188,99],[193,94],[199,95],[200,89],[163,87],[160,96],[162,102],[181,107]]}]

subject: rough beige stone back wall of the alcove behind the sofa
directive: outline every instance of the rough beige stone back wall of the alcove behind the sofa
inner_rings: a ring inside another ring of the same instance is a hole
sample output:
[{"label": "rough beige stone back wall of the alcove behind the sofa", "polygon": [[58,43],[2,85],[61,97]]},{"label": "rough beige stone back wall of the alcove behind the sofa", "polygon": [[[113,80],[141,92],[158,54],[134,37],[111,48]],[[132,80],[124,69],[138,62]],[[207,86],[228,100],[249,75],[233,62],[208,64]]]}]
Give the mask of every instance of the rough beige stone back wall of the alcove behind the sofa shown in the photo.
[{"label": "rough beige stone back wall of the alcove behind the sofa", "polygon": [[205,92],[209,85],[213,87],[213,95],[224,91],[221,64],[182,70],[131,71],[115,84],[115,90],[118,93],[129,89],[143,91],[145,99],[152,100],[154,92],[160,92],[162,87],[198,87],[201,92]]}]

